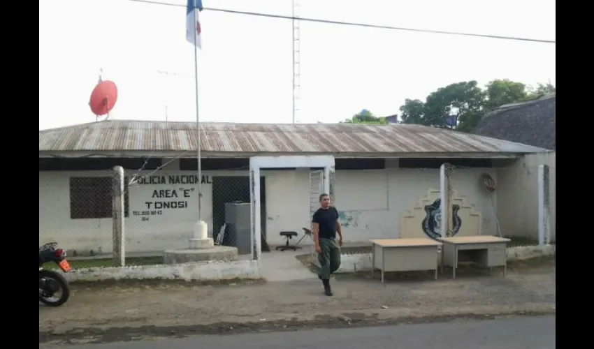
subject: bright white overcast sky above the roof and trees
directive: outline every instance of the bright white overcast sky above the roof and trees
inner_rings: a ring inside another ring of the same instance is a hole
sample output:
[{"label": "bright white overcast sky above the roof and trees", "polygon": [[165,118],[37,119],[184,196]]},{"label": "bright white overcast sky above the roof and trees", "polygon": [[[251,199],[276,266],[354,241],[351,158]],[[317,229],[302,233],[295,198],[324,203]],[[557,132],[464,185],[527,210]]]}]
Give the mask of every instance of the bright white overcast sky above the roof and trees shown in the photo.
[{"label": "bright white overcast sky above the roof and trees", "polygon": [[[291,0],[203,0],[203,6],[292,11]],[[184,7],[52,0],[39,1],[39,14],[40,130],[96,120],[88,103],[100,69],[118,87],[110,119],[196,121]],[[300,0],[299,14],[556,40],[553,0]],[[203,10],[201,27],[200,120],[291,123],[291,20]],[[363,109],[384,117],[398,113],[405,98],[424,100],[447,84],[505,78],[556,84],[556,45],[301,22],[296,122],[335,123]]]}]

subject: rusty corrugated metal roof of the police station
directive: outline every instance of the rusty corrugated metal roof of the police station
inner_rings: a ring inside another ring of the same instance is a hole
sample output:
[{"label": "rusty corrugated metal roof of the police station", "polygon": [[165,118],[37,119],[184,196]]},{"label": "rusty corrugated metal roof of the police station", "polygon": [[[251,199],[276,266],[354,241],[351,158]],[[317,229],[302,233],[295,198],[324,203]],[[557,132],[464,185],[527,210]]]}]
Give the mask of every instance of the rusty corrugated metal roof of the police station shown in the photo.
[{"label": "rusty corrugated metal roof of the police station", "polygon": [[[108,120],[39,131],[39,151],[195,151],[193,122]],[[443,128],[365,124],[201,124],[205,153],[531,153],[525,144]]]}]

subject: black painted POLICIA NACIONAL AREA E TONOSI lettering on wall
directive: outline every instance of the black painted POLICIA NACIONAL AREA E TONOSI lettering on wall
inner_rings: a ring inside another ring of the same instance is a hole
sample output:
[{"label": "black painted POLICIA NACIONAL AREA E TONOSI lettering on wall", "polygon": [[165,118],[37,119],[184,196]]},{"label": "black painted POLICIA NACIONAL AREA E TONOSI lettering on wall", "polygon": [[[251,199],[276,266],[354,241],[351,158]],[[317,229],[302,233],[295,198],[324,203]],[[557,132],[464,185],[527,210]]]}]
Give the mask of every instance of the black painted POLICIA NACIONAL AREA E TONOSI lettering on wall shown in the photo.
[{"label": "black painted POLICIA NACIONAL AREA E TONOSI lettering on wall", "polygon": [[[202,184],[212,184],[212,178],[209,176],[202,176],[200,181]],[[143,209],[132,211],[132,216],[139,216],[141,221],[149,221],[150,216],[161,216],[164,211],[170,209],[187,209],[191,193],[196,191],[196,184],[196,174],[140,177],[138,185],[154,188],[150,191],[150,198],[143,201]],[[162,188],[163,185],[167,187]]]}]

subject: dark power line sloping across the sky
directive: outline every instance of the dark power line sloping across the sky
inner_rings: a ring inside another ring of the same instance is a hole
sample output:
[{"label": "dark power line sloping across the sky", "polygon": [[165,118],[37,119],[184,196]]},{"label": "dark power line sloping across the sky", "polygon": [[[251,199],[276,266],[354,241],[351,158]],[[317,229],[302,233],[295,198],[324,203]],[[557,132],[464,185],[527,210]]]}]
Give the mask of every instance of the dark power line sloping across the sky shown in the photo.
[{"label": "dark power line sloping across the sky", "polygon": [[[180,3],[166,3],[162,1],[150,1],[150,0],[129,0],[139,3],[150,3],[153,5],[161,5],[161,6],[174,6],[174,7],[186,7]],[[314,22],[314,23],[325,23],[325,24],[340,24],[340,25],[347,25],[351,27],[364,27],[364,28],[374,28],[374,29],[389,29],[389,30],[399,30],[399,31],[414,31],[417,33],[427,33],[427,34],[444,34],[444,35],[456,35],[456,36],[474,36],[476,38],[491,38],[491,39],[500,39],[500,40],[516,40],[516,41],[530,41],[533,43],[557,43],[556,40],[542,40],[542,39],[533,39],[533,38],[521,38],[517,36],[499,36],[499,35],[488,35],[488,34],[472,34],[472,33],[463,33],[459,31],[442,31],[442,30],[432,30],[432,29],[416,29],[416,28],[405,28],[405,27],[392,27],[388,25],[379,25],[379,24],[366,24],[366,23],[355,23],[355,22],[342,22],[342,21],[334,21],[334,20],[321,20],[317,18],[307,18],[307,17],[292,17],[292,16],[284,16],[284,15],[272,15],[270,13],[257,13],[257,12],[247,12],[247,11],[236,11],[236,10],[226,10],[224,8],[207,8],[205,7],[204,10],[216,11],[216,12],[223,12],[223,13],[235,13],[236,15],[250,15],[256,17],[268,17],[268,18],[281,18],[283,20],[300,20],[303,22]]]}]

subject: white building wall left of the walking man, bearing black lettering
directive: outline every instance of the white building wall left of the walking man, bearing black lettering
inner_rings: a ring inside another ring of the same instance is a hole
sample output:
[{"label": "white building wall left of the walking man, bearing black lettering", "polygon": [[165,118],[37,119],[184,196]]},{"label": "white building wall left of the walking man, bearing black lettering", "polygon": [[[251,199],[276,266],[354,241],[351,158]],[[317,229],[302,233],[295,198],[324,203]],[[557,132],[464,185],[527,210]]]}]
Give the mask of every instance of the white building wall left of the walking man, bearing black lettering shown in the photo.
[{"label": "white building wall left of the walking man, bearing black lettering", "polygon": [[[82,172],[40,172],[39,173],[39,233],[40,242],[57,241],[64,248],[75,249],[80,253],[93,250],[96,253],[109,253],[112,250],[112,219],[71,219],[69,178],[75,176],[104,177],[111,171]],[[133,172],[126,171],[130,177]],[[193,175],[196,171],[166,169],[158,176]],[[247,171],[205,171],[203,176],[248,176]],[[266,177],[267,229],[272,234],[273,244],[280,243],[281,230],[299,231],[308,226],[308,177],[307,172],[263,171]],[[126,251],[161,251],[166,248],[187,248],[188,237],[197,221],[197,188],[194,185],[138,184],[129,188],[129,216],[125,218]],[[191,190],[189,198],[182,198],[180,188]],[[173,190],[180,198],[152,198],[155,190]],[[203,184],[202,218],[208,223],[209,236],[212,237],[212,184]],[[249,191],[249,188],[246,188]],[[92,197],[89,195],[89,201]],[[269,201],[270,200],[270,201]],[[134,211],[154,211],[147,209],[145,202],[187,201],[185,209],[161,209],[161,215],[135,216]],[[275,239],[276,238],[276,239]],[[275,241],[276,240],[276,241]]]}]

